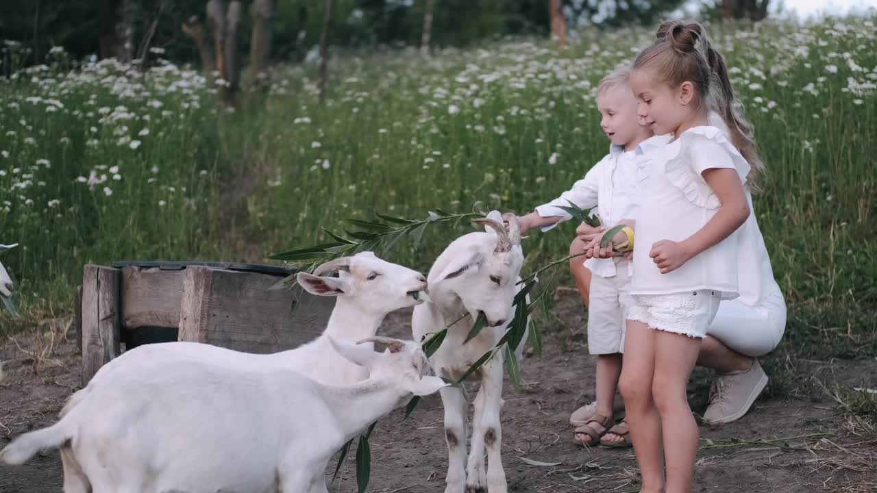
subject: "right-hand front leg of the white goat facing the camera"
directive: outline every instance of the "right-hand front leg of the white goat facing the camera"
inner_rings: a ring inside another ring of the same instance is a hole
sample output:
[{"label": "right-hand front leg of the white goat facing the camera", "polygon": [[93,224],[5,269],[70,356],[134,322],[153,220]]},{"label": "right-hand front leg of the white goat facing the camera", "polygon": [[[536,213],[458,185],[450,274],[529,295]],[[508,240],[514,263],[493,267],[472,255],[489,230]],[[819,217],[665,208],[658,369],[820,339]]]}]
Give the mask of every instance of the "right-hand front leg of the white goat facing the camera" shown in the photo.
[{"label": "right-hand front leg of the white goat facing the camera", "polygon": [[[503,407],[503,353],[496,354],[481,379],[481,432],[488,449],[488,491],[506,493],[508,485],[503,470],[503,430],[500,427],[500,411]],[[473,439],[474,441],[474,439]]]}]

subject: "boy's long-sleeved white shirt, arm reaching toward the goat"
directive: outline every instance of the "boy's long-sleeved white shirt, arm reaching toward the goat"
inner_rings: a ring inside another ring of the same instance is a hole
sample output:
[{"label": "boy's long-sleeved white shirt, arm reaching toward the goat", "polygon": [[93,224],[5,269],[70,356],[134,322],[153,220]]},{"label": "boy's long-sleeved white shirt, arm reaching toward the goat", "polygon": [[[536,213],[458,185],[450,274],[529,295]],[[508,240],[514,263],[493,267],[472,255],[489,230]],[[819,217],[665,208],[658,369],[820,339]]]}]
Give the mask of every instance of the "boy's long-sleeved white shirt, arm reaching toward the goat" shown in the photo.
[{"label": "boy's long-sleeved white shirt, arm reaching toward the goat", "polygon": [[[645,158],[645,154],[653,149],[666,145],[670,139],[672,139],[671,135],[655,135],[649,139],[645,139],[639,144],[639,146],[637,146],[634,150],[635,159],[633,161],[633,164],[637,166],[637,173],[645,172],[642,167],[649,161]],[[635,218],[635,213],[631,213],[630,218],[616,218],[617,214],[612,211],[612,195],[614,191],[612,178],[613,175],[615,175],[618,157],[623,153],[623,146],[611,145],[609,154],[606,154],[602,160],[597,162],[594,168],[588,170],[588,173],[584,178],[575,182],[573,188],[563,192],[563,194],[555,198],[553,201],[539,205],[536,208],[539,217],[549,218],[560,216],[560,221],[554,225],[543,226],[542,231],[549,231],[554,226],[572,218],[567,211],[558,207],[559,205],[568,206],[569,202],[576,204],[581,209],[596,207],[597,211],[600,211],[601,213],[601,220],[603,217],[607,217],[612,218],[617,222],[621,219]],[[634,211],[638,207],[634,198],[638,196],[635,189],[636,183],[637,181],[635,180],[632,183],[624,184],[627,188],[627,192],[624,195],[632,201],[632,204],[627,204],[627,207],[622,207],[622,209]],[[569,202],[567,202],[567,200]],[[603,224],[603,226],[609,227],[611,225]],[[601,277],[612,277],[617,273],[615,261],[613,259],[588,259],[588,261],[585,261],[584,263],[591,272]],[[633,263],[627,262],[627,264],[628,274],[632,275]]]}]

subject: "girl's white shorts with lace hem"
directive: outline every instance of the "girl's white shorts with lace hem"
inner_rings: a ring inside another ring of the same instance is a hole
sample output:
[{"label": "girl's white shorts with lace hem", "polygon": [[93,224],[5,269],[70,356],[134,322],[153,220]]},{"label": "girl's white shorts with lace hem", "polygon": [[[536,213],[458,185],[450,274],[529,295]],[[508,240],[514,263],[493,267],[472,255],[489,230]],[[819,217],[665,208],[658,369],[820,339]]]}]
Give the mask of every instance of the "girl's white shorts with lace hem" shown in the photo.
[{"label": "girl's white shorts with lace hem", "polygon": [[703,339],[716,317],[720,301],[721,294],[709,289],[673,295],[638,295],[633,297],[627,319],[643,322],[659,331]]}]

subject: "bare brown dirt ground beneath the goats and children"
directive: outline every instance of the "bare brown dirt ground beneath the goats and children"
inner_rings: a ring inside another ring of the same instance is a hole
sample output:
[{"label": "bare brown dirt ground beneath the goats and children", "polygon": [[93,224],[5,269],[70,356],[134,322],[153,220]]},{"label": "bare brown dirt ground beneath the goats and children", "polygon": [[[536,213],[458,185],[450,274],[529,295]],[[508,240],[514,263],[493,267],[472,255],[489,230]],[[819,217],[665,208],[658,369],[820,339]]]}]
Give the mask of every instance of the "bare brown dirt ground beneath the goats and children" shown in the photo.
[{"label": "bare brown dirt ground beneath the goats and children", "polygon": [[[409,316],[401,312],[389,317],[381,333],[410,337]],[[503,465],[511,491],[638,491],[631,449],[583,449],[571,441],[569,413],[593,400],[594,366],[581,336],[583,323],[581,301],[574,293],[561,292],[553,320],[540,324],[545,332],[544,355],[531,355],[521,365],[524,391],[516,394],[506,382]],[[58,333],[64,332],[63,325],[59,321]],[[10,340],[0,347],[0,361],[8,361],[0,382],[0,447],[22,432],[53,423],[65,398],[78,389],[80,358],[75,343],[56,340],[51,352],[43,354],[49,343],[46,338],[22,338],[18,346]],[[40,354],[36,373],[35,353]],[[834,382],[871,388],[877,383],[877,361],[785,364],[816,376],[829,388]],[[691,390],[693,408],[702,412],[702,385],[693,383]],[[403,421],[402,411],[381,420],[371,439],[370,491],[444,491],[447,453],[442,416],[440,399],[432,396],[407,420]],[[759,399],[749,414],[730,425],[702,426],[701,438],[695,475],[698,492],[877,491],[877,440],[855,418],[838,411],[827,392],[809,398]],[[522,458],[559,464],[532,466]],[[22,467],[0,466],[2,493],[58,492],[61,483],[57,451],[38,455]],[[351,457],[330,490],[355,489]]]}]

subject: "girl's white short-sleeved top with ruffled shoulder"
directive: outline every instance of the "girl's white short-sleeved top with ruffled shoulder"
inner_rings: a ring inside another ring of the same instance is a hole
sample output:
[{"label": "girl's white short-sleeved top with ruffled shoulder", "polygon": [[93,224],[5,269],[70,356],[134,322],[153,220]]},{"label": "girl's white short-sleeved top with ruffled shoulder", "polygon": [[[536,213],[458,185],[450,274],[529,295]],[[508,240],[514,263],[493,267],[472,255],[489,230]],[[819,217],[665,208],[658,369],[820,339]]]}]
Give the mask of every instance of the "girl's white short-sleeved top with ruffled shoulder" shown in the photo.
[{"label": "girl's white short-sleeved top with ruffled shoulder", "polygon": [[682,132],[678,139],[645,154],[648,173],[639,175],[643,194],[637,216],[633,249],[631,294],[667,295],[710,289],[723,299],[738,297],[739,230],[687,261],[661,274],[649,256],[661,239],[681,241],[700,230],[722,205],[703,179],[710,168],[733,168],[745,184],[750,166],[737,148],[715,126]]}]

